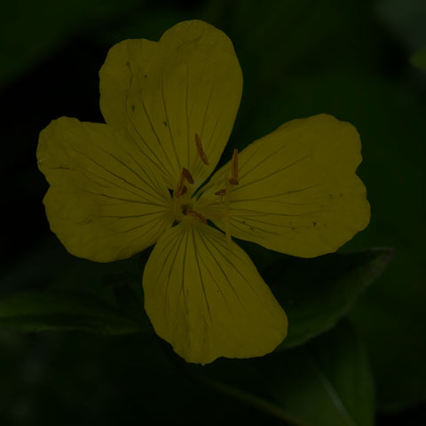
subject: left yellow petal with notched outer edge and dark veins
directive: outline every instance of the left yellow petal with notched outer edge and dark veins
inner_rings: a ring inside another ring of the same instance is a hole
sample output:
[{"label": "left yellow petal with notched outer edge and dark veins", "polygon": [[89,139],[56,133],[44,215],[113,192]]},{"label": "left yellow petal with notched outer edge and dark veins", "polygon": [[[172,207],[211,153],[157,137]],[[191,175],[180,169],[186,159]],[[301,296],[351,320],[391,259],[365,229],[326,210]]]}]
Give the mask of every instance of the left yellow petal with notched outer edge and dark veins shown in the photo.
[{"label": "left yellow petal with notched outer edge and dark veins", "polygon": [[170,227],[170,193],[133,142],[106,124],[61,117],[41,133],[38,167],[51,231],[80,257],[109,262],[151,246]]}]

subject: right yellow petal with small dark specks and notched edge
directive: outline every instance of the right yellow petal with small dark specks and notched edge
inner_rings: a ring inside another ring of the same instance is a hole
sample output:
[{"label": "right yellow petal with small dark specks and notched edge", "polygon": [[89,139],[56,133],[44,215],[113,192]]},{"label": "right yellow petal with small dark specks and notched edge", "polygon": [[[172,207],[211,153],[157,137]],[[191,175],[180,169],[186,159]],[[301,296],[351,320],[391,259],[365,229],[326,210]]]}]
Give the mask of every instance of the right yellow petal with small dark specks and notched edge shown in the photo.
[{"label": "right yellow petal with small dark specks and notched edge", "polygon": [[224,201],[230,164],[218,170],[193,207],[241,240],[288,255],[334,252],[369,222],[366,188],[355,174],[361,162],[357,130],[327,114],[293,120],[239,155],[240,185]]}]

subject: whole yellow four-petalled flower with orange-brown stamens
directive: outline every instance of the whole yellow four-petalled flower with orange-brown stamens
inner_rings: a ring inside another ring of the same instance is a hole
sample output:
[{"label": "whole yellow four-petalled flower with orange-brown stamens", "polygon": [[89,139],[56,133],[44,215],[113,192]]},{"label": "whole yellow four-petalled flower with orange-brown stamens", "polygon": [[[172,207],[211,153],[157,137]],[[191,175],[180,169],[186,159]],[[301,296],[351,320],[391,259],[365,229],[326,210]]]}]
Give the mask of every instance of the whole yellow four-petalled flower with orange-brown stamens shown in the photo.
[{"label": "whole yellow four-petalled flower with orange-brown stamens", "polygon": [[146,312],[187,361],[273,351],[287,335],[286,314],[231,236],[312,257],[365,228],[357,130],[327,114],[293,120],[235,151],[201,186],[240,106],[228,37],[181,22],[158,43],[115,44],[99,76],[106,124],[60,117],[40,134],[51,230],[70,253],[97,262],[155,244]]}]

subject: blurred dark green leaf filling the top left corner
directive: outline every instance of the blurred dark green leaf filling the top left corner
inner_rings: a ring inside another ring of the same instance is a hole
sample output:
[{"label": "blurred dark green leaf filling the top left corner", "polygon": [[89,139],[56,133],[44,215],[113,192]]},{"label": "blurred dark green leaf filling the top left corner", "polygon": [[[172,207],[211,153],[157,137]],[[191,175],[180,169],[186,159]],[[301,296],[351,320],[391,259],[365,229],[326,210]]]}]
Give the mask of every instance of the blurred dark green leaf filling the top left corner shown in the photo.
[{"label": "blurred dark green leaf filling the top left corner", "polygon": [[4,2],[0,18],[0,88],[64,43],[67,36],[93,30],[130,11],[136,0]]}]

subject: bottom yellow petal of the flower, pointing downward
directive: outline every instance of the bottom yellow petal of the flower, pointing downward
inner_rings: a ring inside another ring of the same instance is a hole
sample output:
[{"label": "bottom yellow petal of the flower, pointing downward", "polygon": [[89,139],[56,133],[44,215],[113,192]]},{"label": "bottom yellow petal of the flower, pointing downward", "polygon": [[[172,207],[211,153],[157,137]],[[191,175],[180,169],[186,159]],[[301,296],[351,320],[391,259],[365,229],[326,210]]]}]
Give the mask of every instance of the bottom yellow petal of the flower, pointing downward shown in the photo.
[{"label": "bottom yellow petal of the flower, pointing downward", "polygon": [[286,314],[256,266],[208,225],[183,221],[164,233],[143,285],[155,332],[188,362],[262,356],[287,335]]}]

